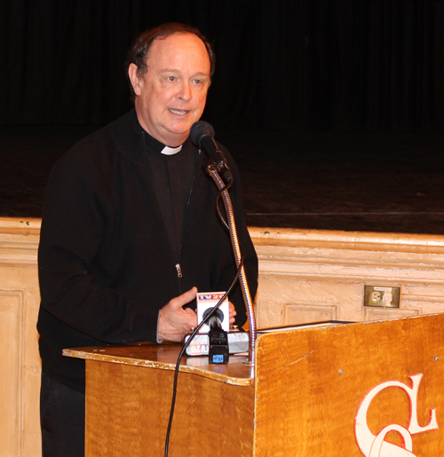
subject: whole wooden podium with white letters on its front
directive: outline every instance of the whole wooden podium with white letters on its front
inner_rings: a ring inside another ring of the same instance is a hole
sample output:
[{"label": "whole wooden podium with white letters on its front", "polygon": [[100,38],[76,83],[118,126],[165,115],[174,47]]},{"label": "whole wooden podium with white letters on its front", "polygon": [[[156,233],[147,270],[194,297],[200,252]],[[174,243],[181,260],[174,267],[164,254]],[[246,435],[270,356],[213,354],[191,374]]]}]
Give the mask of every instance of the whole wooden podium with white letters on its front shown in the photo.
[{"label": "whole wooden podium with white letters on its front", "polygon": [[[186,358],[170,456],[436,457],[443,334],[444,315],[326,324],[259,335],[253,369]],[[65,351],[86,359],[87,457],[163,456],[178,351]]]}]

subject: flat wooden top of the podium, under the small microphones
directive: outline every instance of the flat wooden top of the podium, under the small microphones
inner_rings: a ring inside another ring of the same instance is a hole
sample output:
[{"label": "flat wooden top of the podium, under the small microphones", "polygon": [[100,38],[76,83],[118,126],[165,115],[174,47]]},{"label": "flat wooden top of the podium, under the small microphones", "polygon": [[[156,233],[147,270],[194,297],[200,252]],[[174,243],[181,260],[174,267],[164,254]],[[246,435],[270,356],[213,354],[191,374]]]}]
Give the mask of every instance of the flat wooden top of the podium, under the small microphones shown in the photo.
[{"label": "flat wooden top of the podium, under the small microphones", "polygon": [[[63,355],[75,359],[174,370],[181,349],[182,347],[177,344],[136,343],[65,349]],[[250,386],[254,384],[254,366],[245,364],[246,360],[246,356],[230,356],[227,365],[209,365],[208,357],[184,356],[179,371],[198,374],[228,384]]]}]

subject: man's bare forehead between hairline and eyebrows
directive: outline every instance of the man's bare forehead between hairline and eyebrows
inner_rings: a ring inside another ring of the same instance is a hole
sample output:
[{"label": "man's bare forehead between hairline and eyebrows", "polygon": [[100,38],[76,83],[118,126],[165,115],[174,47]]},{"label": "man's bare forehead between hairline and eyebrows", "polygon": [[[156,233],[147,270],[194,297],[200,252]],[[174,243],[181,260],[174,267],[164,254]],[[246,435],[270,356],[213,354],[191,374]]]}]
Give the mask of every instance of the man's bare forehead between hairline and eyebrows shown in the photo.
[{"label": "man's bare forehead between hairline and eyebrows", "polygon": [[210,57],[197,35],[175,33],[155,39],[147,54],[147,67],[196,67],[198,71],[210,74]]}]

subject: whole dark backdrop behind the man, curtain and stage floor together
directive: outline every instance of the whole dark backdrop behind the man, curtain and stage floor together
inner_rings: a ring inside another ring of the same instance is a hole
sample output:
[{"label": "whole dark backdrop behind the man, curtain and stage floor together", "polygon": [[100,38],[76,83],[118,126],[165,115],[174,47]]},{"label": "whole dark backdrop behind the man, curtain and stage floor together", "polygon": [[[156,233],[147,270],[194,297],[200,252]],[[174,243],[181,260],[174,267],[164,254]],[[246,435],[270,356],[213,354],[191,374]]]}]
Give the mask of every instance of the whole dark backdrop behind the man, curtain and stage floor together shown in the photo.
[{"label": "whole dark backdrop behind the man, curtain and stage floor together", "polygon": [[444,232],[438,0],[4,1],[0,216],[41,216],[52,163],[131,107],[126,51],[166,21],[215,48],[203,118],[249,225]]}]

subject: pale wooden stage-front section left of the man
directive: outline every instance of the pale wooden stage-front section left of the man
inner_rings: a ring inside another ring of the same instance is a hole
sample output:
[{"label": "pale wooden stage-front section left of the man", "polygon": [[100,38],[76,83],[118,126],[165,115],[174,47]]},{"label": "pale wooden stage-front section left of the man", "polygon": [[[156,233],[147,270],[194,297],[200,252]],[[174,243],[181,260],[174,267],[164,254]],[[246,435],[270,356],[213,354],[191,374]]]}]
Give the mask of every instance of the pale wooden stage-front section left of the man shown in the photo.
[{"label": "pale wooden stage-front section left of the man", "polygon": [[0,457],[40,457],[39,219],[0,218]]}]

